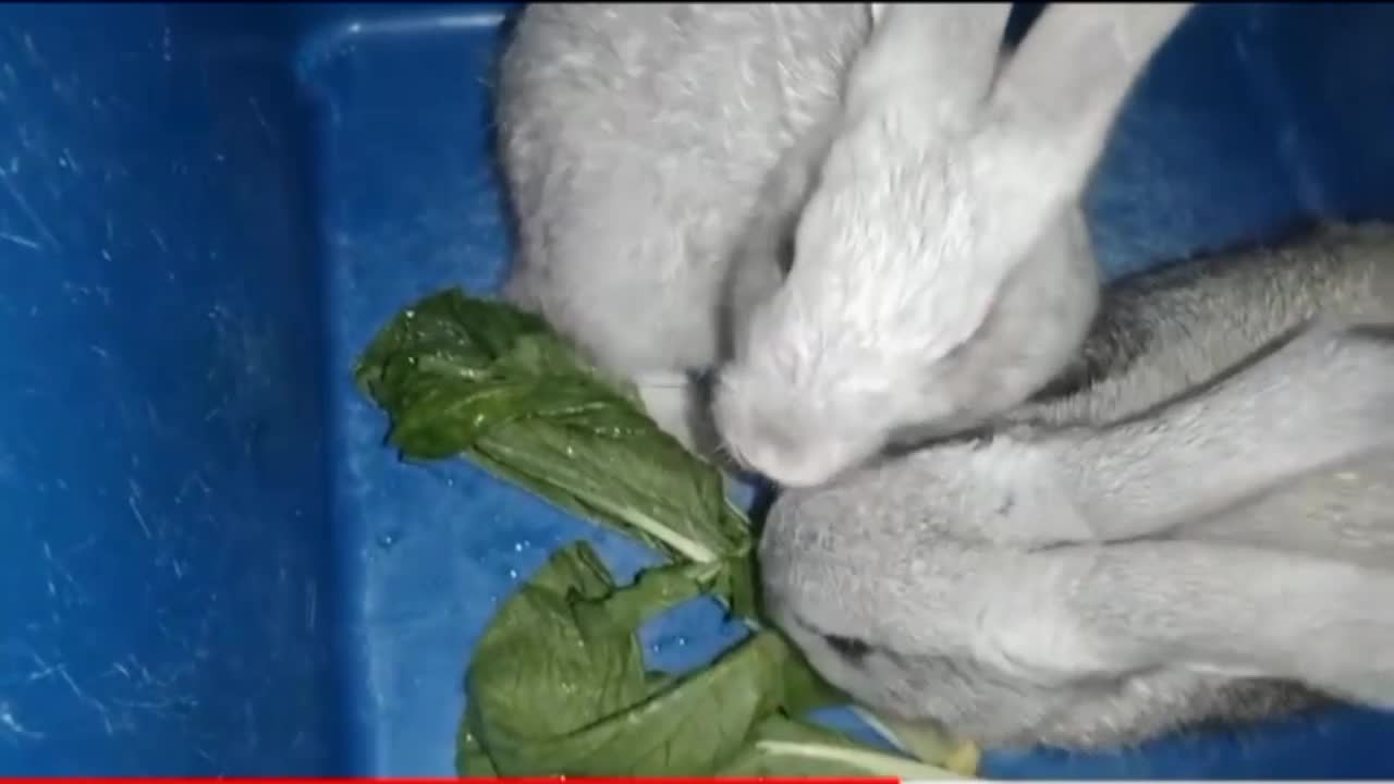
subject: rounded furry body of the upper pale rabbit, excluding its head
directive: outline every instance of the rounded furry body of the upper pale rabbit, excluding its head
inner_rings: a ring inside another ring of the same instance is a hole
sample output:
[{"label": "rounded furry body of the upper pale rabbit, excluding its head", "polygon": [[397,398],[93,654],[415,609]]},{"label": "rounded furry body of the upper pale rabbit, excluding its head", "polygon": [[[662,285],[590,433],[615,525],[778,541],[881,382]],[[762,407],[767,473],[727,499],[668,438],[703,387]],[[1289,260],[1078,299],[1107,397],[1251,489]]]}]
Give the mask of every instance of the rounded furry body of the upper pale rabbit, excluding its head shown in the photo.
[{"label": "rounded furry body of the upper pale rabbit, excluding its head", "polygon": [[537,3],[505,49],[505,296],[637,382],[689,446],[687,377],[718,361],[757,194],[836,110],[870,24],[861,3]]}]

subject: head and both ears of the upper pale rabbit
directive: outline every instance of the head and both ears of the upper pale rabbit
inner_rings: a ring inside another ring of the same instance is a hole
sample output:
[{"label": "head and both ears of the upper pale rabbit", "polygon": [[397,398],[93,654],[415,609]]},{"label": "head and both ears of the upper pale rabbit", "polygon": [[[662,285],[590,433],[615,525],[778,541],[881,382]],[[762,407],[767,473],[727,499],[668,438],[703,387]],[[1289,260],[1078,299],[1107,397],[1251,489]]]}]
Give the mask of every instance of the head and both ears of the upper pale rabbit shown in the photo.
[{"label": "head and both ears of the upper pale rabbit", "polygon": [[1098,299],[1080,194],[1189,7],[1051,4],[1004,61],[1005,4],[884,4],[792,269],[715,375],[732,456],[814,485],[1055,377]]}]

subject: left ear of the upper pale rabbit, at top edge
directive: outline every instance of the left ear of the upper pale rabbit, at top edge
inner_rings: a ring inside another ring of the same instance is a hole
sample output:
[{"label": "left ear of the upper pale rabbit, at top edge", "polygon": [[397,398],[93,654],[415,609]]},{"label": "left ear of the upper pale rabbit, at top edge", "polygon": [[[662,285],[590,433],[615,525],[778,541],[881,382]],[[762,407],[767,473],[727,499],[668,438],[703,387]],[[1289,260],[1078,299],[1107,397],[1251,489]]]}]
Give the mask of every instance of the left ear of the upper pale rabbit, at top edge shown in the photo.
[{"label": "left ear of the upper pale rabbit, at top edge", "polygon": [[848,113],[885,100],[960,121],[987,96],[1011,3],[871,3],[871,38],[848,77]]}]

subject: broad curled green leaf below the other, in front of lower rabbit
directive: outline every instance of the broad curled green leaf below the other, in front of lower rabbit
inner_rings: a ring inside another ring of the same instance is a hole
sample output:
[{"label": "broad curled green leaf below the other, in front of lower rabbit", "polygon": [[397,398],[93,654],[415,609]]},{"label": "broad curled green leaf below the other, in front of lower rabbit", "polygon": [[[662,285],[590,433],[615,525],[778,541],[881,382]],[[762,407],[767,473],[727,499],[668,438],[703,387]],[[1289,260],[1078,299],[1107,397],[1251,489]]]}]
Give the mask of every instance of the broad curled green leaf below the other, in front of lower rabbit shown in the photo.
[{"label": "broad curled green leaf below the other, in front of lower rabbit", "polygon": [[719,568],[652,569],[616,589],[590,545],[556,555],[500,608],[468,674],[470,734],[500,776],[701,776],[782,707],[783,638],[757,632],[683,678],[645,671],[638,625]]}]

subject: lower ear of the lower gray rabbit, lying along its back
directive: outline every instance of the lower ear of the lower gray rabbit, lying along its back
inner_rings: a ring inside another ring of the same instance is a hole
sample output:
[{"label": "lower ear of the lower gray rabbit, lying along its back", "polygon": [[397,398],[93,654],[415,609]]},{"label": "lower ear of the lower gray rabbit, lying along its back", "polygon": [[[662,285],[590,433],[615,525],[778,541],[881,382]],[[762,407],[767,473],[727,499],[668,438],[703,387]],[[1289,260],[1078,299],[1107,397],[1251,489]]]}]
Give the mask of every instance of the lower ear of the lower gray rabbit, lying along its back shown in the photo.
[{"label": "lower ear of the lower gray rabbit, lying along its back", "polygon": [[1043,678],[1179,668],[1394,707],[1394,657],[1381,654],[1394,650],[1394,572],[1146,540],[1043,551],[1013,572],[979,618],[1005,660]]}]

